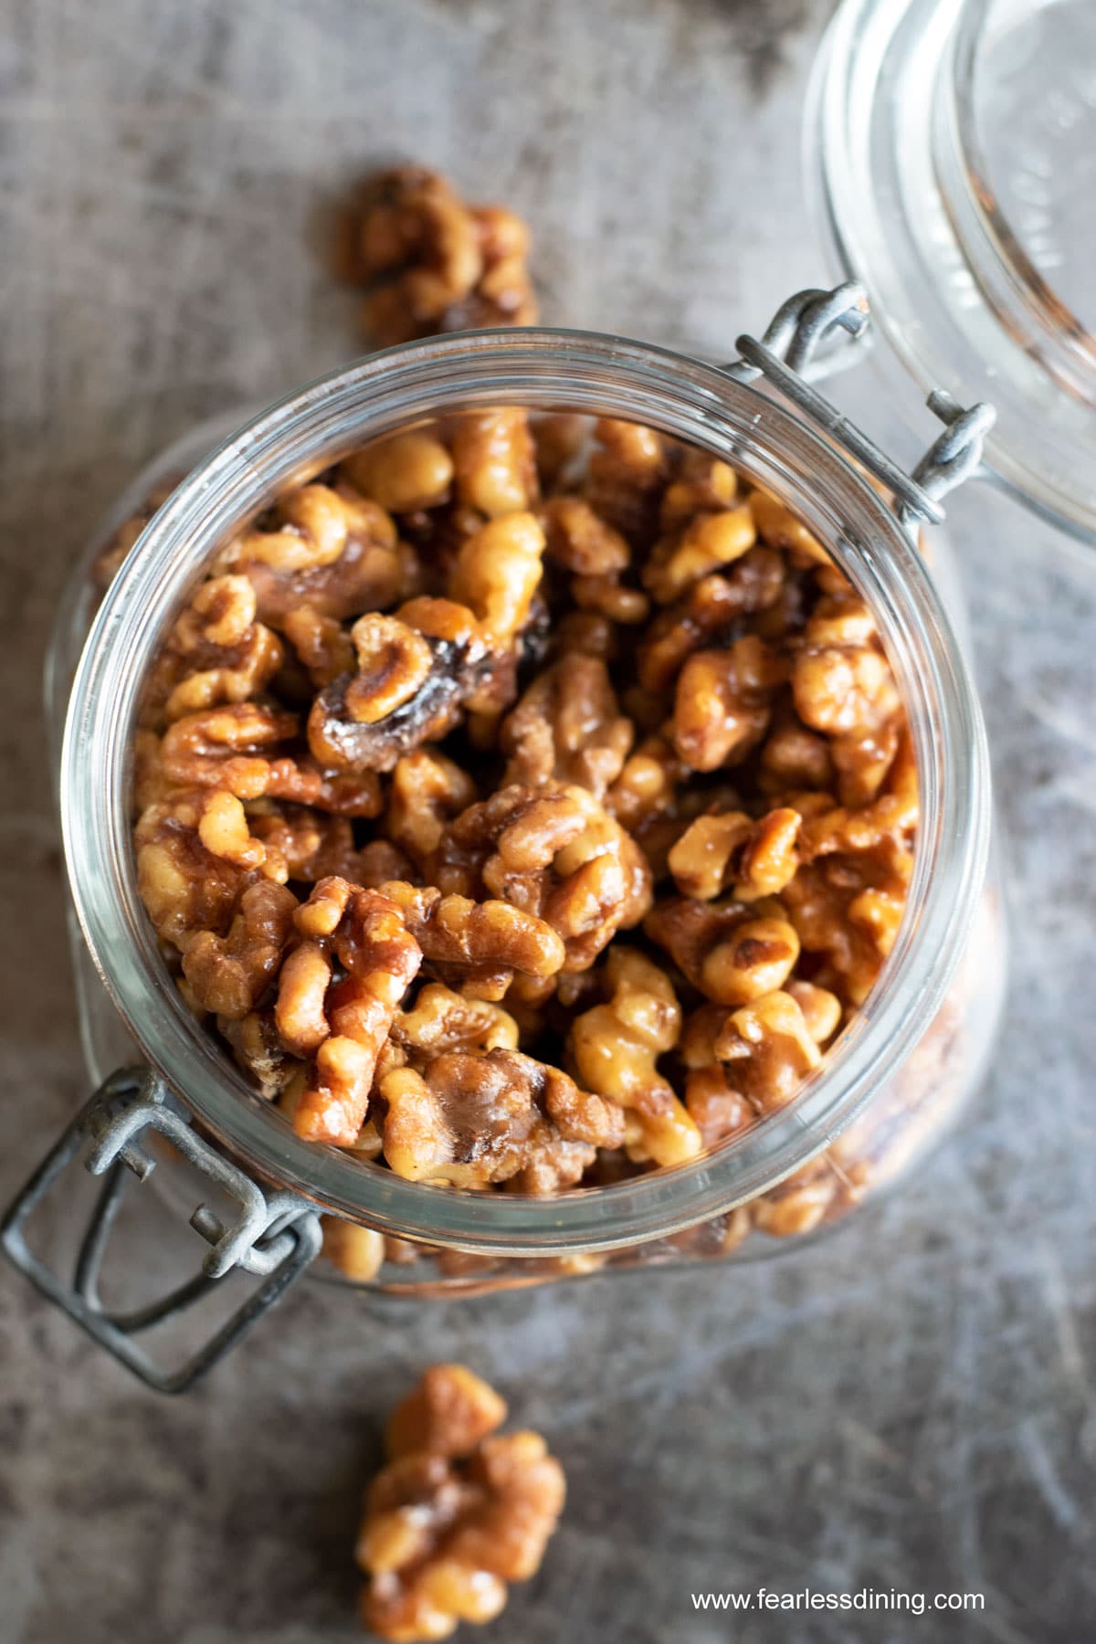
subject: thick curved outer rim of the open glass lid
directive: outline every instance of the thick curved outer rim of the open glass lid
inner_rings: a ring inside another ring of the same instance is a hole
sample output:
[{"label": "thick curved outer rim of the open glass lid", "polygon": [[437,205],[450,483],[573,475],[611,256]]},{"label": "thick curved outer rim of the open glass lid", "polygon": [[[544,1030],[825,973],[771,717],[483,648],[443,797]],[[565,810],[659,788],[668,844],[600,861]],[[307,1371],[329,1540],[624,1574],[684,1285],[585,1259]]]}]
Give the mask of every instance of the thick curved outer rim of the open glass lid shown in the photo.
[{"label": "thick curved outer rim of the open glass lid", "polygon": [[989,186],[974,76],[991,21],[992,0],[843,0],[807,97],[810,206],[902,370],[991,399],[988,472],[1091,544],[1096,345]]}]

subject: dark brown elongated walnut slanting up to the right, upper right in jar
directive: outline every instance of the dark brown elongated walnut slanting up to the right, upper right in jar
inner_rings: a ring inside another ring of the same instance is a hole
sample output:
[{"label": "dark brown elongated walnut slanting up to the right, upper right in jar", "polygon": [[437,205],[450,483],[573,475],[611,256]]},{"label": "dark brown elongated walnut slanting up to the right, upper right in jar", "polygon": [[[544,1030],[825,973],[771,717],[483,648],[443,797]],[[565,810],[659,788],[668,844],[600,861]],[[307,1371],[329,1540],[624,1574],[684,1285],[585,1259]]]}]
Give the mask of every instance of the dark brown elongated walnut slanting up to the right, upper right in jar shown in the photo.
[{"label": "dark brown elongated walnut slanting up to the right, upper right in jar", "polygon": [[744,618],[771,610],[784,589],[784,562],[767,547],[751,547],[726,575],[708,575],[661,612],[639,651],[639,684],[664,692],[693,651],[730,646],[743,636]]}]

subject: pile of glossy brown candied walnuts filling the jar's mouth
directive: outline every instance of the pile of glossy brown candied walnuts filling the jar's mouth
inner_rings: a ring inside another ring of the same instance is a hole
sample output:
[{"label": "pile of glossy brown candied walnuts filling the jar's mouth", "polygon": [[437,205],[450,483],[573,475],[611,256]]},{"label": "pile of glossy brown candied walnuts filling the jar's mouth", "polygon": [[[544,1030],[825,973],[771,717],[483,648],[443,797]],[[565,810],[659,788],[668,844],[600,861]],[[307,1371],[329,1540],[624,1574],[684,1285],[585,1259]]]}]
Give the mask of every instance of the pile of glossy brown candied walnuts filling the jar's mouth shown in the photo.
[{"label": "pile of glossy brown candied walnuts filling the jar's mouth", "polygon": [[[301,1136],[465,1189],[682,1164],[784,1106],[914,863],[902,704],[820,544],[710,452],[514,406],[225,544],[135,763],[192,1008]],[[800,1231],[828,1185],[759,1215]]]}]

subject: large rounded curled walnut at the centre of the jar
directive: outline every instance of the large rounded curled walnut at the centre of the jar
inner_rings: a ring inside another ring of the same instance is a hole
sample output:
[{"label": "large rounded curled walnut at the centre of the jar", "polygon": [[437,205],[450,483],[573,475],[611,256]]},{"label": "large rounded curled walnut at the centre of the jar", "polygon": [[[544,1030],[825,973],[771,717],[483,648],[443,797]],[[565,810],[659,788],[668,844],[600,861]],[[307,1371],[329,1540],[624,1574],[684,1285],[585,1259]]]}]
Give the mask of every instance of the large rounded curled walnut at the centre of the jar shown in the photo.
[{"label": "large rounded curled walnut at the centre of the jar", "polygon": [[546,919],[564,939],[564,970],[587,970],[616,931],[651,906],[639,847],[585,787],[511,784],[457,817],[431,863],[437,883],[485,886]]}]

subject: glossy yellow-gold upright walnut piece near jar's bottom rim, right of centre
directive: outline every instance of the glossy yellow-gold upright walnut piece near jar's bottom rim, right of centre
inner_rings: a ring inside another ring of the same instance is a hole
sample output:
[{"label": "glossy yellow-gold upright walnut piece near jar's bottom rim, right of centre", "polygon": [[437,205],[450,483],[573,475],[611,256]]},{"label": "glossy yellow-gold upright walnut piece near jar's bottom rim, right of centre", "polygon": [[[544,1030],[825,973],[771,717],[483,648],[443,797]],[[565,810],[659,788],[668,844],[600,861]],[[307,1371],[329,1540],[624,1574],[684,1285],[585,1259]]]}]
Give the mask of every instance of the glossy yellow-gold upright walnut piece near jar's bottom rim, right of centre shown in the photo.
[{"label": "glossy yellow-gold upright walnut piece near jar's bottom rim, right of centre", "polygon": [[588,1090],[628,1110],[629,1157],[682,1164],[700,1152],[700,1131],[656,1065],[680,1032],[674,986],[665,972],[634,949],[615,947],[605,978],[611,990],[608,1003],[583,1011],[570,1029],[575,1072]]}]

